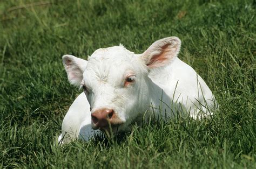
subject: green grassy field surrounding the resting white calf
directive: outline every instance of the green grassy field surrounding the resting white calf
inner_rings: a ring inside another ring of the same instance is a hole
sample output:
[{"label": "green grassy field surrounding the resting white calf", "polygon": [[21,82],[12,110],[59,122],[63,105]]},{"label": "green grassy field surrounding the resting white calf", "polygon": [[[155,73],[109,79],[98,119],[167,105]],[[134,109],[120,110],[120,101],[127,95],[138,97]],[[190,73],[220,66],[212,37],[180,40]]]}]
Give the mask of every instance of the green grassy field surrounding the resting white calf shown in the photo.
[{"label": "green grassy field surrounding the resting white calf", "polygon": [[[0,2],[0,167],[255,168],[256,1]],[[179,58],[200,74],[220,109],[107,140],[57,146],[81,92],[63,54],[85,58],[122,43],[142,53],[177,36]]]}]

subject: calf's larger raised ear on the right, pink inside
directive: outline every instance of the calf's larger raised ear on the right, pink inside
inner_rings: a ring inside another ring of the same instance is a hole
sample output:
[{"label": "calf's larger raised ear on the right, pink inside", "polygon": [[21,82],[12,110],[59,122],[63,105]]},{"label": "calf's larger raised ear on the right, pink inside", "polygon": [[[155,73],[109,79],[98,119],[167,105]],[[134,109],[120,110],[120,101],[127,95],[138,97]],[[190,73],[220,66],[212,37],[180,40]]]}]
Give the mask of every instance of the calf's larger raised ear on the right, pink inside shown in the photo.
[{"label": "calf's larger raised ear on the right, pink inside", "polygon": [[143,63],[149,68],[168,65],[178,56],[181,41],[177,37],[168,37],[155,41],[142,54]]}]

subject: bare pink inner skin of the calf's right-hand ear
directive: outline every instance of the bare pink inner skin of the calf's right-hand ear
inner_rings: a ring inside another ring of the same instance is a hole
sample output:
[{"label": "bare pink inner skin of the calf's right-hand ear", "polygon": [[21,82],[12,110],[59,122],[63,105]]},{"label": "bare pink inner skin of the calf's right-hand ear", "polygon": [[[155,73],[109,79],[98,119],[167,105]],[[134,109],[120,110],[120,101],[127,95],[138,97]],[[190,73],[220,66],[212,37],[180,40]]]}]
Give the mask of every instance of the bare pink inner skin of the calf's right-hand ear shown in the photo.
[{"label": "bare pink inner skin of the calf's right-hand ear", "polygon": [[[167,63],[167,61],[170,59],[172,54],[172,48],[169,47],[170,44],[166,44],[163,47],[160,48],[160,53],[154,55],[148,64],[146,64],[148,67],[158,67],[163,66]],[[172,58],[172,57],[171,57]]]}]

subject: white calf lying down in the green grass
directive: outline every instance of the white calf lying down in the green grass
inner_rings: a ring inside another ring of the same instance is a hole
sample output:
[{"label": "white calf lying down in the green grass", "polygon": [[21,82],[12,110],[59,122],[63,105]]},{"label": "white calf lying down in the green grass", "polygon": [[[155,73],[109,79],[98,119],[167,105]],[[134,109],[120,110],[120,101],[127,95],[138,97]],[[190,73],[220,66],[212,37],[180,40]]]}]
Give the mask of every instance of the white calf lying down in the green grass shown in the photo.
[{"label": "white calf lying down in the green grass", "polygon": [[[134,54],[122,45],[96,50],[88,60],[63,56],[72,85],[80,94],[62,124],[59,141],[95,132],[122,132],[155,117],[211,115],[217,107],[212,91],[194,69],[178,58],[181,41],[168,37]],[[65,135],[65,136],[64,136]]]}]

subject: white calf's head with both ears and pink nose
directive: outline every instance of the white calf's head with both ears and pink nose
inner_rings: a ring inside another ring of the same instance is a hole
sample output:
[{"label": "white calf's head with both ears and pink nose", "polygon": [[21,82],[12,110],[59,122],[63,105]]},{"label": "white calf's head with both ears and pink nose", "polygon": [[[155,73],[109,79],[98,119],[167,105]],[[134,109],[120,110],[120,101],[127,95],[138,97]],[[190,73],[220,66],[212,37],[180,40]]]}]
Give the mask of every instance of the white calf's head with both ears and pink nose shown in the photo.
[{"label": "white calf's head with both ears and pink nose", "polygon": [[84,89],[91,106],[93,129],[125,131],[149,108],[152,95],[149,72],[168,65],[180,50],[177,37],[154,42],[144,53],[123,46],[96,50],[88,60],[63,56],[72,85]]}]

